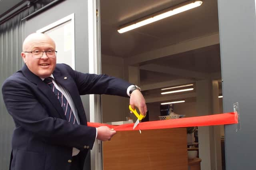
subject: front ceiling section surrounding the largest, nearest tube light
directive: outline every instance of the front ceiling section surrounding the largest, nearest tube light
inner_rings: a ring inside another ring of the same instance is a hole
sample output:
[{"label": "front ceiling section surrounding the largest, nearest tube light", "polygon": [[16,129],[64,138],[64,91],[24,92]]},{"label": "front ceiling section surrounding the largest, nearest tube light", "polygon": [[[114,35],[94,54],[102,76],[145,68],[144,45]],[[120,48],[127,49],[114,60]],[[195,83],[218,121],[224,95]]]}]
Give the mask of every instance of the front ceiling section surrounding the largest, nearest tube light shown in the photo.
[{"label": "front ceiling section surrounding the largest, nearest tube light", "polygon": [[130,57],[188,39],[218,32],[217,0],[205,0],[192,10],[119,34],[119,26],[186,0],[101,0],[101,50]]}]

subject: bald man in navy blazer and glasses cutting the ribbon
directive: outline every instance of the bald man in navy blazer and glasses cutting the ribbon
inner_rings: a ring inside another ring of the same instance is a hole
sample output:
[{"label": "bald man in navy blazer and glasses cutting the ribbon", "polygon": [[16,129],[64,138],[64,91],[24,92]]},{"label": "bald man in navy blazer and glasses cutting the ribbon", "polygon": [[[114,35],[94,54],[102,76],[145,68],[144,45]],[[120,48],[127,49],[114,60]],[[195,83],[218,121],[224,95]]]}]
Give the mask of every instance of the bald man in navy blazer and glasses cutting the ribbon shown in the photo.
[{"label": "bald man in navy blazer and glasses cutting the ribbon", "polygon": [[114,129],[87,127],[80,95],[130,95],[133,108],[138,107],[142,115],[147,111],[137,86],[56,64],[56,53],[49,36],[30,34],[21,53],[24,67],[2,86],[6,108],[16,126],[11,170],[82,170],[95,139],[111,139]]}]

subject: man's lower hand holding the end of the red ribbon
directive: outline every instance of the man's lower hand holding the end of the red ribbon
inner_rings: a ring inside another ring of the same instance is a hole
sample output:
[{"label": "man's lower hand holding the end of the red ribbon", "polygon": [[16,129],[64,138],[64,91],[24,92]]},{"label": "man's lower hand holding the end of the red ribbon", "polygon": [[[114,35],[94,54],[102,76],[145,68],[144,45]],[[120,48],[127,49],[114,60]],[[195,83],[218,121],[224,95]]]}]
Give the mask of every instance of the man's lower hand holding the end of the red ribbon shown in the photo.
[{"label": "man's lower hand holding the end of the red ribbon", "polygon": [[98,140],[102,140],[102,141],[110,140],[112,138],[112,136],[114,136],[114,134],[116,134],[116,130],[114,130],[113,128],[109,128],[106,126],[97,128],[97,139]]}]

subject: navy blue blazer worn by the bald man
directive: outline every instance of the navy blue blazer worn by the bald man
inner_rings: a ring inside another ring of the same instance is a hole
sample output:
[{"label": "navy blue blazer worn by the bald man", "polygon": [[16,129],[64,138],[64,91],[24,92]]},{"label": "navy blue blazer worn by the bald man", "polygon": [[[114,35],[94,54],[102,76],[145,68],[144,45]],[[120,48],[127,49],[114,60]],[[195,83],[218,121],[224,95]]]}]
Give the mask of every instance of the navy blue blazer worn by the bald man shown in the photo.
[{"label": "navy blue blazer worn by the bald man", "polygon": [[68,160],[72,160],[73,147],[80,150],[79,166],[83,167],[88,149],[94,144],[96,128],[87,126],[80,95],[128,97],[126,89],[131,85],[107,75],[80,73],[66,64],[57,64],[53,75],[70,93],[81,125],[66,121],[49,86],[24,65],[2,86],[6,108],[15,123],[11,170],[70,170]]}]

